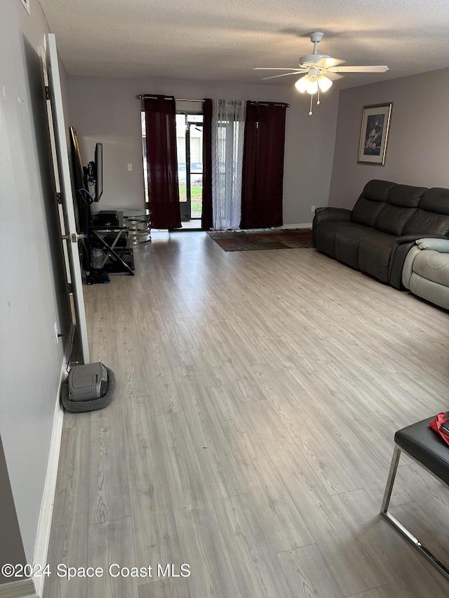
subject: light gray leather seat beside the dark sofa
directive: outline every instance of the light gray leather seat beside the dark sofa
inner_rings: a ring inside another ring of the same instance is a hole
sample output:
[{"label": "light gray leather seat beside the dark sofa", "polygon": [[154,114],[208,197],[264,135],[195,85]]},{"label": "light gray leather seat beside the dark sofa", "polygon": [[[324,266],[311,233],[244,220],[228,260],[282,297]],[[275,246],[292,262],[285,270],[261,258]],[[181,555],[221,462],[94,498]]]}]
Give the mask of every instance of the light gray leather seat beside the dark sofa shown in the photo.
[{"label": "light gray leather seat beside the dark sofa", "polygon": [[406,289],[449,309],[449,239],[418,239],[402,270]]}]

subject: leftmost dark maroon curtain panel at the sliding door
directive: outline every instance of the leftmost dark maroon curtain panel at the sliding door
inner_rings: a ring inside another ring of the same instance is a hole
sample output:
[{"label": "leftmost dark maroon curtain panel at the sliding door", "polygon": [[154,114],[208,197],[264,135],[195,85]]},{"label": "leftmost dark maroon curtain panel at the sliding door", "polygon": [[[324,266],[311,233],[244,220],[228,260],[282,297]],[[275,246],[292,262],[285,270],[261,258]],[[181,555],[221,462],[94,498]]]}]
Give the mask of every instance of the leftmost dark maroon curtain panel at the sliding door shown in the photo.
[{"label": "leftmost dark maroon curtain panel at the sliding door", "polygon": [[175,98],[145,98],[147,180],[152,228],[181,226],[177,182]]}]

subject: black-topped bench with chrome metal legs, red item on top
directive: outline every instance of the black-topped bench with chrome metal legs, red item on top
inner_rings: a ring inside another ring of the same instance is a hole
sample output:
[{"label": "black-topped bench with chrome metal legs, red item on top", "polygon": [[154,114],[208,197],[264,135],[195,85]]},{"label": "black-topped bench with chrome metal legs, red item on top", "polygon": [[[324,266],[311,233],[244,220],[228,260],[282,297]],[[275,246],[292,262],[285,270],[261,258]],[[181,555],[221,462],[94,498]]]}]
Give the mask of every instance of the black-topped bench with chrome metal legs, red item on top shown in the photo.
[{"label": "black-topped bench with chrome metal legs, red item on top", "polygon": [[401,453],[407,454],[410,458],[434,475],[437,480],[449,486],[449,445],[446,444],[429,426],[429,421],[434,418],[424,419],[402,430],[398,430],[394,435],[394,452],[391,459],[391,466],[382,501],[381,513],[398,531],[412,543],[417,550],[433,564],[443,576],[449,579],[449,569],[422,543],[413,536],[413,534],[401,524],[388,510],[391,492],[393,490],[396,471],[398,469]]}]

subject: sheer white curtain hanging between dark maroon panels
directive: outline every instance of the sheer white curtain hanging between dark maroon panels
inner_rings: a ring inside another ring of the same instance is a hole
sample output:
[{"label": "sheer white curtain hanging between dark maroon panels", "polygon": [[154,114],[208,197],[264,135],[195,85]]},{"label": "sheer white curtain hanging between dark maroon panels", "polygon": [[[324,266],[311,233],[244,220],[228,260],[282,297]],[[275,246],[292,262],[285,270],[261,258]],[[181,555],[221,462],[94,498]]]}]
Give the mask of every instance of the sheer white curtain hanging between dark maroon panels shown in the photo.
[{"label": "sheer white curtain hanging between dark maroon panels", "polygon": [[241,221],[241,174],[246,102],[213,100],[213,229],[238,229]]}]

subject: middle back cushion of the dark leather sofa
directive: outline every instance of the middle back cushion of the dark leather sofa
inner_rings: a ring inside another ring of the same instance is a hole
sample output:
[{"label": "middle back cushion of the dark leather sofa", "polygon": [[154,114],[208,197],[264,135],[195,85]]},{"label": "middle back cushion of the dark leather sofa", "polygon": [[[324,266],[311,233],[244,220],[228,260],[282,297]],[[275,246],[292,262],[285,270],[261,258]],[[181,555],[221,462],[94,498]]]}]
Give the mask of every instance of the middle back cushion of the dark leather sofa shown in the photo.
[{"label": "middle back cushion of the dark leather sofa", "polygon": [[375,229],[401,236],[404,226],[417,211],[426,187],[395,185],[389,191],[388,203],[375,221]]}]

